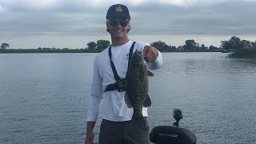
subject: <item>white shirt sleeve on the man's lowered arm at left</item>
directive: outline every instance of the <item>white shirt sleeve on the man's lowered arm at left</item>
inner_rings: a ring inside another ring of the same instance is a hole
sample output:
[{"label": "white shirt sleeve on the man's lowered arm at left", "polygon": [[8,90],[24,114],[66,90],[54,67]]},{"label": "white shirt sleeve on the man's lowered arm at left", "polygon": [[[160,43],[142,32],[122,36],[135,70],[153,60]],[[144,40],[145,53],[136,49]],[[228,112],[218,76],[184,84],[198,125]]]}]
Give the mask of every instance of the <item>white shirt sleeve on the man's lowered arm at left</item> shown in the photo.
[{"label": "white shirt sleeve on the man's lowered arm at left", "polygon": [[98,113],[103,101],[103,86],[102,77],[98,71],[98,61],[97,57],[94,59],[94,74],[93,82],[90,88],[90,98],[87,113],[87,121],[96,122],[98,118]]}]

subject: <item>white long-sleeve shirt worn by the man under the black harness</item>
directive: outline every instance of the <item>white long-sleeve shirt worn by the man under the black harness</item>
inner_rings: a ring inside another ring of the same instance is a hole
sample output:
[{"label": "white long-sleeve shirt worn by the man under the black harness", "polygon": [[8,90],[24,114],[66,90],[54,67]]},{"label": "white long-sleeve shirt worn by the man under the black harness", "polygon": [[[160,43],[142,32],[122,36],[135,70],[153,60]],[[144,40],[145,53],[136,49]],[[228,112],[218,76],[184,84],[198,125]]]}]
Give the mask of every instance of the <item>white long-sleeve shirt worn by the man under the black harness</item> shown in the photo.
[{"label": "white long-sleeve shirt worn by the man under the black harness", "polygon": [[[122,46],[111,46],[111,60],[114,62],[118,76],[121,79],[126,78],[130,46],[132,43],[133,41],[130,41]],[[150,45],[145,42],[136,42],[134,51],[142,51],[145,46]],[[94,75],[90,89],[87,121],[96,122],[101,106],[102,118],[109,121],[129,121],[134,113],[133,108],[128,108],[126,105],[124,100],[125,92],[118,92],[118,90],[104,92],[106,86],[116,82],[110,66],[108,51],[109,47],[94,58]],[[150,70],[157,70],[161,66],[162,54],[158,51],[158,58],[154,62],[148,62],[148,67]],[[143,107],[142,115],[144,117],[148,116],[146,107]]]}]

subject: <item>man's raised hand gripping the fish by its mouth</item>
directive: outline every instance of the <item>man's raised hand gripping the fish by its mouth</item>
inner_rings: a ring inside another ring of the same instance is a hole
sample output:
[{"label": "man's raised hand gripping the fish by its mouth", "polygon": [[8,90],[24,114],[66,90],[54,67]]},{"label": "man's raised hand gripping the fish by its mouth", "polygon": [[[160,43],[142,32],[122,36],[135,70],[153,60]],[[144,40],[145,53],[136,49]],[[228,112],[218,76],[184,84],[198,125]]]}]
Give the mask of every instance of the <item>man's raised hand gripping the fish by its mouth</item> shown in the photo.
[{"label": "man's raised hand gripping the fish by its mouth", "polygon": [[158,58],[158,50],[154,46],[145,46],[143,51],[146,51],[146,62],[153,62]]}]

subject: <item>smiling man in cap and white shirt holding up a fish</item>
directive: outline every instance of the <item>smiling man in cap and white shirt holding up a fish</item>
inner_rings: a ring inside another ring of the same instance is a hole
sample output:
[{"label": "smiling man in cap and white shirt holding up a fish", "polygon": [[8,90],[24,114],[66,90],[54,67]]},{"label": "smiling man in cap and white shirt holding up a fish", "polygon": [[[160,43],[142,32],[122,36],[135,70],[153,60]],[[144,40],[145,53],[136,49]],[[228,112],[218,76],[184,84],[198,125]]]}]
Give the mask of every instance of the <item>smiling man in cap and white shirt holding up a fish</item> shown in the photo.
[{"label": "smiling man in cap and white shirt holding up a fish", "polygon": [[[125,89],[117,85],[115,77],[118,76],[125,80],[129,55],[135,50],[146,51],[145,59],[150,70],[157,70],[162,66],[162,54],[148,43],[130,40],[128,38],[130,28],[128,8],[121,4],[110,6],[106,14],[106,30],[110,33],[112,45],[94,59],[94,76],[87,114],[86,144],[94,143],[93,129],[101,106],[100,144],[150,143],[149,126],[146,121],[147,109],[143,107],[143,121],[132,118],[133,108],[127,107],[124,100]],[[111,61],[114,66],[111,66]]]}]

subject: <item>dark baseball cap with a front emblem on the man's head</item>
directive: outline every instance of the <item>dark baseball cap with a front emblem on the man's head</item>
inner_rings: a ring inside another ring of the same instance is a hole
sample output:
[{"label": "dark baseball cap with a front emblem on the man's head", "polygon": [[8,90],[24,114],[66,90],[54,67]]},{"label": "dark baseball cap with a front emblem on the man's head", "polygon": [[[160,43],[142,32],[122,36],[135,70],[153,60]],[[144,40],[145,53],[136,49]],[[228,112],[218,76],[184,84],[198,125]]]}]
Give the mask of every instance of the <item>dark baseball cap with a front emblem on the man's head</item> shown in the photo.
[{"label": "dark baseball cap with a front emblem on the man's head", "polygon": [[122,4],[116,4],[110,6],[109,10],[106,13],[106,19],[116,18],[116,17],[124,17],[130,19],[129,10],[126,6]]}]

